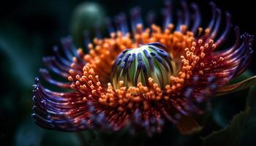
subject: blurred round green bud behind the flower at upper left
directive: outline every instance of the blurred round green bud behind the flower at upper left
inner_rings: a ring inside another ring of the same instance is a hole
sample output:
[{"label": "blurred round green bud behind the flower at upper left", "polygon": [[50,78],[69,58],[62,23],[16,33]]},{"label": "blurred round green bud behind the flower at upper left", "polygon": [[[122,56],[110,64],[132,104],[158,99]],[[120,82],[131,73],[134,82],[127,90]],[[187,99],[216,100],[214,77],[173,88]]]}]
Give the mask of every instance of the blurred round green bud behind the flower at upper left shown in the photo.
[{"label": "blurred round green bud behind the flower at upper left", "polygon": [[105,10],[95,2],[84,2],[75,8],[71,19],[71,34],[77,47],[84,47],[84,33],[96,34],[105,25]]}]

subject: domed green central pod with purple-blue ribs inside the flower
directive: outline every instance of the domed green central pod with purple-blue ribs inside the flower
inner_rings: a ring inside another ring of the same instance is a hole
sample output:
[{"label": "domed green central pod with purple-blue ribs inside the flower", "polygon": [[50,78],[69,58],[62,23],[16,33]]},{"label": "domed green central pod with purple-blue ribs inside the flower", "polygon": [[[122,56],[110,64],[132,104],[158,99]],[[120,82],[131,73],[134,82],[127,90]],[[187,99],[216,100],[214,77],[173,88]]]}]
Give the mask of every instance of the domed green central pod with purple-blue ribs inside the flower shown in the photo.
[{"label": "domed green central pod with purple-blue ribs inside the flower", "polygon": [[136,86],[138,82],[148,85],[148,77],[151,77],[160,88],[164,88],[170,83],[173,66],[170,55],[161,48],[165,46],[150,43],[120,53],[111,74],[113,87],[119,88],[121,80],[127,87]]}]

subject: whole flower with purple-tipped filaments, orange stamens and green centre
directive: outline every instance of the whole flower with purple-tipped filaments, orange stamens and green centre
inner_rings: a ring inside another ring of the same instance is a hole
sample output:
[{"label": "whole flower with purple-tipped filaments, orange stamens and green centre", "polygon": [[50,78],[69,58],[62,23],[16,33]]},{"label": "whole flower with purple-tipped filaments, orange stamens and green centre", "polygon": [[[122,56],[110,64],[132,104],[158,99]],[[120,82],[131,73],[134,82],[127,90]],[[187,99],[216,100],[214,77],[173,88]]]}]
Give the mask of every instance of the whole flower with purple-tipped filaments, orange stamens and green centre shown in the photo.
[{"label": "whole flower with purple-tipped filaments, orange stamens and green centre", "polygon": [[[151,136],[170,121],[181,134],[199,131],[195,116],[207,110],[212,96],[246,88],[246,82],[255,80],[227,85],[246,70],[253,36],[241,35],[238,27],[231,31],[228,12],[221,30],[222,13],[214,4],[205,29],[200,27],[196,4],[190,9],[182,1],[181,7],[176,25],[168,1],[162,27],[154,24],[152,13],[146,19],[147,27],[143,25],[138,7],[131,11],[131,31],[124,13],[116,17],[115,25],[108,19],[110,37],[94,38],[88,54],[76,50],[70,37],[63,39],[65,57],[54,47],[56,55],[43,61],[69,82],[54,80],[47,69],[40,72],[67,92],[50,91],[37,77],[33,96],[36,123],[59,131],[118,131],[129,126],[131,131],[143,130]],[[236,34],[234,45],[225,48],[232,32]]]}]

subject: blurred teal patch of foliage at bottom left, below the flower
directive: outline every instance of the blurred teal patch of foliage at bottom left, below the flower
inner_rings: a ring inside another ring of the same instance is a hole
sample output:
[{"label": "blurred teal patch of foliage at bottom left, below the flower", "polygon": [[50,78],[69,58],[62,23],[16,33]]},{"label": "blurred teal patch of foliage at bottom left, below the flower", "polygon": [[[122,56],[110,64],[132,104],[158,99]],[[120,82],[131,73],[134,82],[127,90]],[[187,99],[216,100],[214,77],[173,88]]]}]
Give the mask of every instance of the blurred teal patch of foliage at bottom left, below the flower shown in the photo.
[{"label": "blurred teal patch of foliage at bottom left, below the flower", "polygon": [[15,134],[17,146],[39,145],[82,145],[75,133],[48,131],[34,124],[34,119],[26,117],[18,126]]}]

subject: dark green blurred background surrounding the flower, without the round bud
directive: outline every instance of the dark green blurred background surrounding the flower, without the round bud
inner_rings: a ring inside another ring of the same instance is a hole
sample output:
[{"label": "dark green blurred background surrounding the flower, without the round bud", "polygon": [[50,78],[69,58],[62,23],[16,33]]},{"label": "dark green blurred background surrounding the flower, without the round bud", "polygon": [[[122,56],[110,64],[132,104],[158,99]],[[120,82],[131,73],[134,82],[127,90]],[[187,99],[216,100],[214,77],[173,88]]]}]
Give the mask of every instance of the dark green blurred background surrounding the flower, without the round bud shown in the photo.
[{"label": "dark green blurred background surrounding the flower, without the round bud", "polygon": [[[34,124],[31,118],[32,85],[38,69],[42,67],[42,57],[51,55],[53,45],[59,45],[59,39],[70,32],[72,12],[83,1],[80,0],[9,0],[0,4],[0,145],[203,145],[200,137],[211,134],[227,126],[227,123],[247,107],[246,96],[249,90],[233,93],[212,100],[213,112],[206,115],[206,128],[200,134],[180,136],[175,128],[167,126],[162,134],[148,138],[141,134],[129,137],[125,131],[118,134],[102,134],[97,131],[83,133],[84,140],[78,134],[46,131]],[[157,11],[162,1],[154,0],[98,0],[101,6],[99,16],[114,16],[119,12],[140,6],[143,14],[151,9]],[[189,1],[190,2],[190,1]],[[208,1],[196,0],[208,22],[211,9]],[[221,9],[227,9],[233,15],[233,22],[241,31],[256,34],[255,5],[252,1],[216,1]],[[208,16],[208,18],[206,17]],[[87,23],[91,27],[93,23]],[[104,31],[104,29],[103,29]],[[249,69],[255,74],[255,58]],[[251,98],[254,96],[251,93]],[[253,98],[252,98],[253,99]],[[255,100],[255,99],[254,99]],[[254,103],[249,100],[249,103]],[[252,106],[253,107],[253,104]],[[253,108],[252,108],[253,109]],[[238,116],[233,131],[211,137],[206,145],[253,145],[256,137],[255,110],[243,112]],[[244,115],[243,115],[244,114]],[[248,118],[249,116],[249,118]],[[237,122],[238,121],[238,122]],[[246,123],[245,125],[242,123]],[[234,130],[235,129],[235,130]],[[230,135],[238,134],[238,135]],[[235,140],[239,139],[237,142]],[[227,142],[227,143],[224,143]],[[233,143],[232,143],[233,142]]]}]

